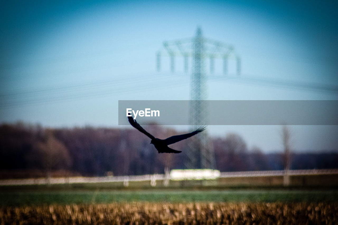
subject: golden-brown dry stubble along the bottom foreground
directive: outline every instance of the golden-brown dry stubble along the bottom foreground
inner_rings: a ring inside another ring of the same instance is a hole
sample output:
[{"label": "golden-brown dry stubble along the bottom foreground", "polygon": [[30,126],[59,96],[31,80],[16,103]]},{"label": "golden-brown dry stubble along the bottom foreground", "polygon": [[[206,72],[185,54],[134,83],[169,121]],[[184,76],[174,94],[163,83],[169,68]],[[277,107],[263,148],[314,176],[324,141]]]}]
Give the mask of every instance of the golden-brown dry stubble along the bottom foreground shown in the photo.
[{"label": "golden-brown dry stubble along the bottom foreground", "polygon": [[0,224],[338,224],[338,203],[112,203],[0,208]]}]

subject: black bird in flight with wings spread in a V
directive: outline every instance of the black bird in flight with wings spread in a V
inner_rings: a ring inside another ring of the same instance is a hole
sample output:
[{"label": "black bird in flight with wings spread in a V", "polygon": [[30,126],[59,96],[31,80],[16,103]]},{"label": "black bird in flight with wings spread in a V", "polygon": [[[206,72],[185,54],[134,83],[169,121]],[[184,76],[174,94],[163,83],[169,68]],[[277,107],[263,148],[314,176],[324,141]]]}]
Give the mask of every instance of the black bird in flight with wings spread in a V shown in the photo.
[{"label": "black bird in flight with wings spread in a V", "polygon": [[200,127],[193,132],[186,133],[186,134],[180,134],[180,135],[174,135],[174,136],[171,136],[171,137],[163,140],[163,139],[155,138],[153,135],[148,133],[131,116],[128,117],[128,121],[129,121],[131,126],[135,127],[136,129],[138,129],[139,131],[141,131],[142,133],[144,133],[145,135],[147,135],[151,139],[150,144],[153,144],[155,146],[156,150],[159,153],[180,153],[180,152],[182,152],[182,151],[177,151],[177,150],[174,150],[172,148],[169,148],[168,145],[171,145],[171,144],[174,144],[176,142],[182,141],[184,139],[190,138],[191,136],[194,136],[195,134],[202,132],[203,130],[206,129],[205,126]]}]

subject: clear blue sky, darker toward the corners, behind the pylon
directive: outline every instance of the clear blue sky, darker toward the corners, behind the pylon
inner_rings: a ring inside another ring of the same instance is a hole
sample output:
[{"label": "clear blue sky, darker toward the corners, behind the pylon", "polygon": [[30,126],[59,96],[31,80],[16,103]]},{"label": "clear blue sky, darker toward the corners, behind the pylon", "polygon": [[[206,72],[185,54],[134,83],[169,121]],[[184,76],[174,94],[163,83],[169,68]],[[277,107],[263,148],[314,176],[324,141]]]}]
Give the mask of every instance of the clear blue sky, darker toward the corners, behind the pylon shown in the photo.
[{"label": "clear blue sky, darker toward the corners, behind the pylon", "polygon": [[[333,1],[1,1],[0,122],[118,126],[118,100],[187,100],[190,71],[163,42],[203,35],[234,46],[242,76],[338,85],[338,6]],[[235,78],[230,61],[228,78]],[[207,63],[208,64],[208,63]],[[217,61],[216,61],[217,64]],[[191,65],[191,64],[190,64]],[[337,100],[337,92],[224,79],[210,100]],[[216,78],[215,78],[216,77]],[[221,78],[219,78],[221,77]],[[338,149],[337,126],[291,126],[294,149]],[[186,127],[177,127],[186,129]],[[280,126],[209,126],[248,147],[281,150]]]}]

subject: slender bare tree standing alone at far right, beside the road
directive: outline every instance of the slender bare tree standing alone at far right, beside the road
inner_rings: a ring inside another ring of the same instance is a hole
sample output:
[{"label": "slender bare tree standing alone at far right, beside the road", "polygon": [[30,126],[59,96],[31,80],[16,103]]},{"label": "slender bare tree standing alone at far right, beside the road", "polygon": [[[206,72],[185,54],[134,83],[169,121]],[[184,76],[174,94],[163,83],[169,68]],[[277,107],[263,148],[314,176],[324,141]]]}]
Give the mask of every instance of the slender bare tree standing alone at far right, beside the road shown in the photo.
[{"label": "slender bare tree standing alone at far right, beside the road", "polygon": [[291,131],[288,126],[283,125],[282,127],[282,141],[284,148],[284,180],[283,185],[289,186],[289,170],[291,166]]}]

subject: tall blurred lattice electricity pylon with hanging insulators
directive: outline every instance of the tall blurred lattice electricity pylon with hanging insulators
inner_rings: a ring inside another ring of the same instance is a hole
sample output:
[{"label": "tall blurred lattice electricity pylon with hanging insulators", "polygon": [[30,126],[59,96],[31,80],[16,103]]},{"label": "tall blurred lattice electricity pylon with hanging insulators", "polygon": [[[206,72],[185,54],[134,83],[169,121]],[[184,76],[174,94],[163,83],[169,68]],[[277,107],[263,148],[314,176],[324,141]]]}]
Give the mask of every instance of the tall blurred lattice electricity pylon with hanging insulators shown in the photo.
[{"label": "tall blurred lattice electricity pylon with hanging insulators", "polygon": [[[189,124],[192,130],[200,125],[207,124],[208,105],[206,85],[206,58],[210,58],[210,73],[214,72],[215,58],[223,59],[223,74],[227,74],[227,61],[230,56],[237,60],[237,75],[240,75],[240,58],[234,53],[231,45],[204,38],[200,28],[197,28],[194,38],[176,40],[163,43],[165,51],[157,53],[157,70],[161,67],[161,53],[170,56],[170,70],[174,72],[175,56],[184,57],[184,71],[188,72],[188,58],[192,57],[192,73],[190,81],[190,106]],[[185,151],[187,157],[185,166],[187,169],[216,169],[214,149],[206,131],[194,136],[190,142],[189,149]]]}]

